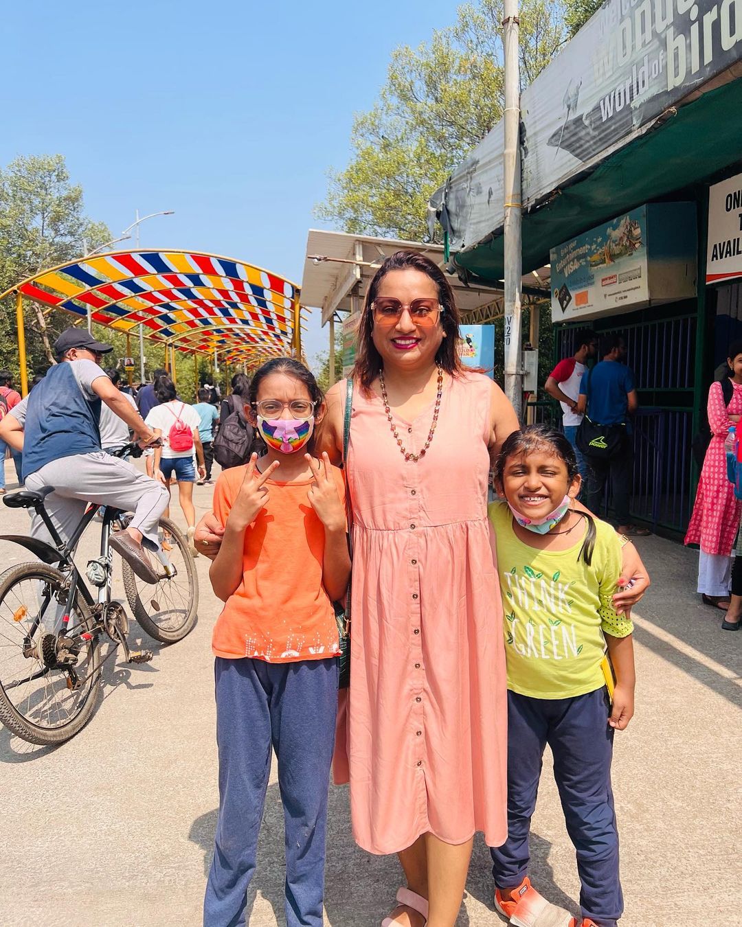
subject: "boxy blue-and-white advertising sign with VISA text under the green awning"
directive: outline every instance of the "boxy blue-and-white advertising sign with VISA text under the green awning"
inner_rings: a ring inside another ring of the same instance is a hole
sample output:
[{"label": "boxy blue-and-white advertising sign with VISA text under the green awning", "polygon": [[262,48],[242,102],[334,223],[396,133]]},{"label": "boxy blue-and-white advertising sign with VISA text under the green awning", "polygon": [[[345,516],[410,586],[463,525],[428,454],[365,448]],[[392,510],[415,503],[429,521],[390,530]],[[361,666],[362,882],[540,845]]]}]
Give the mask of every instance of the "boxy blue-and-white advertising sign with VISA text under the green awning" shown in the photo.
[{"label": "boxy blue-and-white advertising sign with VISA text under the green awning", "polygon": [[696,295],[693,203],[649,203],[551,249],[552,321]]}]

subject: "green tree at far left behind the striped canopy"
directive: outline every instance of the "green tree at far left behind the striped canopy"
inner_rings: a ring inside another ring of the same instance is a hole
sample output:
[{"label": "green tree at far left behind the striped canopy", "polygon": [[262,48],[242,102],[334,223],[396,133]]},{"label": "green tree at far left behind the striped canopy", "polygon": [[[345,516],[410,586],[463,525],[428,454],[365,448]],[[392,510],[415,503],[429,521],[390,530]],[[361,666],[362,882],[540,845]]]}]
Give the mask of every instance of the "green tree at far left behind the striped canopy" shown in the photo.
[{"label": "green tree at far left behind the striped canopy", "polygon": [[[84,214],[83,188],[70,183],[62,155],[24,155],[0,170],[0,292],[108,241],[109,229]],[[54,362],[52,345],[74,317],[26,301],[29,370]],[[18,372],[15,314],[0,314],[0,363]]]}]

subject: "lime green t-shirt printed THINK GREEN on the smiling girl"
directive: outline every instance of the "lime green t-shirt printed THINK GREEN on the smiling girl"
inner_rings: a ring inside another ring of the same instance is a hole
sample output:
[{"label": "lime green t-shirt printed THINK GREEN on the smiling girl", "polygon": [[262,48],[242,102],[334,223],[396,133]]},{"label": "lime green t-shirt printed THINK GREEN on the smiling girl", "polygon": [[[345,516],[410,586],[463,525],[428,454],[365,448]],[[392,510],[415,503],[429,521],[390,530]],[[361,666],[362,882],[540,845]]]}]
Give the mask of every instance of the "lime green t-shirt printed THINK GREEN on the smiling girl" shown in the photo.
[{"label": "lime green t-shirt printed THINK GREEN on the smiling girl", "polygon": [[505,606],[507,688],[531,698],[570,698],[604,684],[603,631],[626,637],[630,618],[618,615],[611,596],[620,577],[620,540],[595,519],[592,564],[578,554],[585,530],[566,551],[539,551],[519,540],[505,502],[492,502],[490,521]]}]

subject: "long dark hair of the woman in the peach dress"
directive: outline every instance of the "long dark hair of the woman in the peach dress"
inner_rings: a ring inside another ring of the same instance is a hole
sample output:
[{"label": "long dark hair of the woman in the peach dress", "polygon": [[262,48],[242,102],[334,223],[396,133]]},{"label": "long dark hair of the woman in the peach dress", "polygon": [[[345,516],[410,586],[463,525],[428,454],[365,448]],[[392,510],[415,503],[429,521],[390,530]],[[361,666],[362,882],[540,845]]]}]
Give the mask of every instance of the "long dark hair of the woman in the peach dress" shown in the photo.
[{"label": "long dark hair of the woman in the peach dress", "polygon": [[441,347],[436,353],[436,363],[440,363],[443,370],[452,376],[458,375],[464,369],[458,350],[460,316],[454,300],[454,291],[446,280],[441,268],[416,251],[397,251],[384,261],[368,287],[365,295],[364,308],[358,323],[358,347],[355,354],[353,377],[365,390],[371,387],[376,377],[381,373],[381,355],[376,349],[372,336],[374,313],[371,303],[377,298],[378,287],[390,271],[404,271],[412,268],[429,276],[438,287],[438,300],[443,307],[441,312],[441,325],[447,337],[441,341]]}]

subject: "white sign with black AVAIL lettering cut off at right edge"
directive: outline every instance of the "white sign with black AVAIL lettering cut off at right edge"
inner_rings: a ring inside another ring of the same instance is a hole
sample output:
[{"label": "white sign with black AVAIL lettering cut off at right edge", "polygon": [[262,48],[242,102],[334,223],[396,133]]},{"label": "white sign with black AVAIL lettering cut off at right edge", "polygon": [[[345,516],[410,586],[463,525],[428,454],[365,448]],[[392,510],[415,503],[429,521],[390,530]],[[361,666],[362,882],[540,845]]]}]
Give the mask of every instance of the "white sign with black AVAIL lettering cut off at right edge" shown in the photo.
[{"label": "white sign with black AVAIL lettering cut off at right edge", "polygon": [[742,277],[742,174],[709,188],[706,283]]}]

